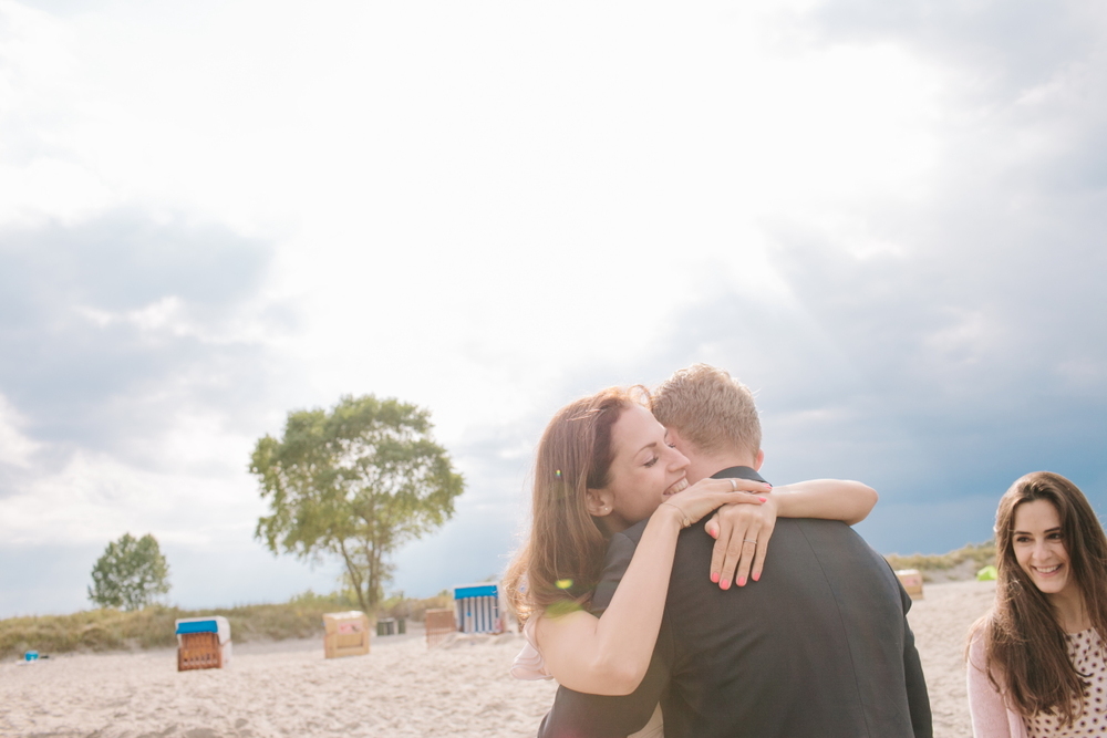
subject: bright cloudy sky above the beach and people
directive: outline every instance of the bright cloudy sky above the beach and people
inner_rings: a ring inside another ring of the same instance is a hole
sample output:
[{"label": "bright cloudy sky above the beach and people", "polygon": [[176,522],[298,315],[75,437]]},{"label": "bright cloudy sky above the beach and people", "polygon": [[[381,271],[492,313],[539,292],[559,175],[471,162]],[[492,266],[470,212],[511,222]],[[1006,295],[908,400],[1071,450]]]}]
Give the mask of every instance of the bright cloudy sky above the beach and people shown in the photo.
[{"label": "bright cloudy sky above the beach and people", "polygon": [[335,588],[247,469],[427,408],[466,481],[387,592],[494,576],[554,412],[695,362],[882,553],[1021,475],[1107,511],[1107,9],[0,0],[0,617],[153,533],[186,607]]}]

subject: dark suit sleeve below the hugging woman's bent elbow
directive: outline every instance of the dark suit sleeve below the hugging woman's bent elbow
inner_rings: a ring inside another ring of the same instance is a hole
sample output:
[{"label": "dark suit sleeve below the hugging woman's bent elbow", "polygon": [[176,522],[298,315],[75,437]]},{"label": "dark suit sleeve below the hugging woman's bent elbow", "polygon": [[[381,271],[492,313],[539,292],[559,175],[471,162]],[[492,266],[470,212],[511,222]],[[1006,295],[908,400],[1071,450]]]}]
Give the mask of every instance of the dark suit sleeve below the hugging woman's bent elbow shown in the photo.
[{"label": "dark suit sleeve below the hugging woman's bent elbow", "polygon": [[662,625],[650,668],[638,689],[625,696],[604,697],[558,687],[554,707],[538,728],[538,738],[625,738],[641,730],[669,686],[671,662],[672,635]]}]

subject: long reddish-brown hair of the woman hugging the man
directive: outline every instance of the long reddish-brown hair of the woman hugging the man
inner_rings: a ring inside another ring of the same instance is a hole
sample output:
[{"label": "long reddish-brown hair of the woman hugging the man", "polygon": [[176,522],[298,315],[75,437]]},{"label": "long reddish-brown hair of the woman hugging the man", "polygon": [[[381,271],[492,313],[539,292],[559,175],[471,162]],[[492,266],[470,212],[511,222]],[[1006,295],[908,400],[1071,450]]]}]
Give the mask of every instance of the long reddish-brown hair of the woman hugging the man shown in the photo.
[{"label": "long reddish-brown hair of the woman hugging the man", "polygon": [[582,603],[596,588],[608,536],[588,513],[588,489],[609,484],[611,427],[640,404],[612,387],[562,407],[538,444],[529,539],[507,569],[508,604],[520,622],[563,603]]}]

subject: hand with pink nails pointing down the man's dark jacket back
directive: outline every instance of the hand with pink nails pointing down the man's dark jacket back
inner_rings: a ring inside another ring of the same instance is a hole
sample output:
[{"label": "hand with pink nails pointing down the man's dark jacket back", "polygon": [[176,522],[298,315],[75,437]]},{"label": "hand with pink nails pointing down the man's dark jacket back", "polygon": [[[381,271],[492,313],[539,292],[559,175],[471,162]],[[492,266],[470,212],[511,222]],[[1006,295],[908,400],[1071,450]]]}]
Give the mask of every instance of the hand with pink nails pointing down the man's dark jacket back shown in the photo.
[{"label": "hand with pink nails pointing down the man's dark jacket back", "polygon": [[765,567],[768,539],[776,528],[777,498],[769,495],[764,505],[727,505],[720,509],[704,530],[715,539],[711,553],[711,581],[724,590],[733,581],[746,585],[746,576],[756,582]]}]

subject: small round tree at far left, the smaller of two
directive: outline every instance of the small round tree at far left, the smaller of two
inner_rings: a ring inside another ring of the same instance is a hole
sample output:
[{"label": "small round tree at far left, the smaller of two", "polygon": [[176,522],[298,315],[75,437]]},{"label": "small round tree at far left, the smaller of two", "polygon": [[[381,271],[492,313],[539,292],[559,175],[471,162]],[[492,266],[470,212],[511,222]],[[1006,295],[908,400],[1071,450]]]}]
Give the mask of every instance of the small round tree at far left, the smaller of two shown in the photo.
[{"label": "small round tree at far left, the smaller of two", "polygon": [[89,599],[101,607],[141,610],[169,591],[169,565],[157,539],[131,533],[113,541],[92,568]]}]

